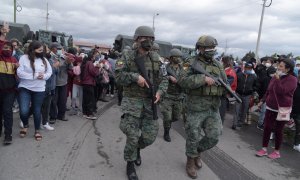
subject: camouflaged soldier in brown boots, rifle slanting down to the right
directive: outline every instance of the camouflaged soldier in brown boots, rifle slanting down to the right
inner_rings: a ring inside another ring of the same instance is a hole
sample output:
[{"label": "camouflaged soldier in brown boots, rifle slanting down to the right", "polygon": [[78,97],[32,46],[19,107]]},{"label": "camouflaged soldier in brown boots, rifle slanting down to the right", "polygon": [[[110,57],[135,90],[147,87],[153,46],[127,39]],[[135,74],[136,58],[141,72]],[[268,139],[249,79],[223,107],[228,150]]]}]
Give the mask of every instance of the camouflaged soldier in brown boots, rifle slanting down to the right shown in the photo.
[{"label": "camouflaged soldier in brown boots, rifle slanting down to the right", "polygon": [[[200,153],[218,143],[222,123],[219,113],[220,97],[225,93],[222,86],[192,69],[193,63],[199,63],[208,73],[227,82],[224,68],[214,60],[217,40],[212,36],[201,36],[196,43],[198,55],[189,59],[187,70],[179,78],[178,84],[187,88],[186,171],[191,178],[197,178],[196,169],[202,167]],[[201,135],[203,129],[205,135]]]}]

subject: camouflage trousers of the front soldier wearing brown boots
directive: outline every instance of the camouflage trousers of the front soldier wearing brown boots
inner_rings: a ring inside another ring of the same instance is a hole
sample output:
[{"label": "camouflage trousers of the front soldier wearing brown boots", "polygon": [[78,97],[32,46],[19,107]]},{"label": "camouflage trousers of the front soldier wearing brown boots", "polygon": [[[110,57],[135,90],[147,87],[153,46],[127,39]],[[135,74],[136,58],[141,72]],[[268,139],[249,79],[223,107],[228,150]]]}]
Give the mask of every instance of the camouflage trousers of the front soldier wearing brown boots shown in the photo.
[{"label": "camouflage trousers of the front soldier wearing brown boots", "polygon": [[[207,111],[188,111],[185,123],[186,155],[189,157],[199,156],[199,152],[214,147],[219,140],[222,130],[222,122],[219,109]],[[201,135],[203,129],[205,135]]]}]

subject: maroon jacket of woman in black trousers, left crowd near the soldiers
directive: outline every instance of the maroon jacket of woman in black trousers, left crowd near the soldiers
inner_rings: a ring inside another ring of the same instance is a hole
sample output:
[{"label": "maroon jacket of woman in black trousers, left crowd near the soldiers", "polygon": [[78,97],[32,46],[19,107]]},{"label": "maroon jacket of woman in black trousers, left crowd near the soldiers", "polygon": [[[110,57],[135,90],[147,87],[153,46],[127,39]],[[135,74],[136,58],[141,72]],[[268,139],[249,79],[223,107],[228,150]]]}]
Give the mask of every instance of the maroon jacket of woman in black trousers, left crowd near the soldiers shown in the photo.
[{"label": "maroon jacket of woman in black trousers, left crowd near the soldiers", "polygon": [[81,84],[96,86],[95,78],[100,74],[99,68],[95,67],[92,61],[85,64]]}]

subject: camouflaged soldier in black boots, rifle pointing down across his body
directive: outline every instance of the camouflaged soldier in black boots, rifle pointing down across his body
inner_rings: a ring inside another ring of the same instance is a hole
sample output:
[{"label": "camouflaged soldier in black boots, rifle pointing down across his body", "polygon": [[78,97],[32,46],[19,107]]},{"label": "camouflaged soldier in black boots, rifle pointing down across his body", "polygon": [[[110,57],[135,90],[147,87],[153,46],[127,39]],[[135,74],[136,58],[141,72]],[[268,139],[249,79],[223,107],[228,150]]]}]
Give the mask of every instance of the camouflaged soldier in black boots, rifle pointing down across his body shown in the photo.
[{"label": "camouflaged soldier in black boots, rifle pointing down across his body", "polygon": [[[136,49],[124,52],[116,62],[116,82],[123,86],[120,129],[127,136],[124,159],[127,161],[129,180],[138,179],[135,165],[141,165],[140,149],[154,142],[158,133],[158,122],[153,120],[149,84],[143,78],[135,59],[143,56],[145,69],[152,84],[157,86],[156,101],[164,94],[168,80],[160,72],[159,56],[150,51],[154,32],[148,26],[140,26],[134,34]],[[140,59],[139,59],[140,60]]]}]

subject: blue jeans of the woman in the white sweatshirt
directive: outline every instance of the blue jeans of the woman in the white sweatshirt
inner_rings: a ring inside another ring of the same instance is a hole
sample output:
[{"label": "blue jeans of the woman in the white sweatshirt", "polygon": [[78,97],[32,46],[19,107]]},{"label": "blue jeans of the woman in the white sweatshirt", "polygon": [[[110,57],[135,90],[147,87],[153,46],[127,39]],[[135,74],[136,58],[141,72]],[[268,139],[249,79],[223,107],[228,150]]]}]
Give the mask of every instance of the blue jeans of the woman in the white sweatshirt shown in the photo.
[{"label": "blue jeans of the woman in the white sweatshirt", "polygon": [[24,128],[28,128],[28,118],[31,106],[33,111],[34,127],[36,131],[39,130],[41,125],[41,107],[44,101],[45,92],[34,92],[25,88],[20,88],[19,96],[20,118],[23,122]]}]

